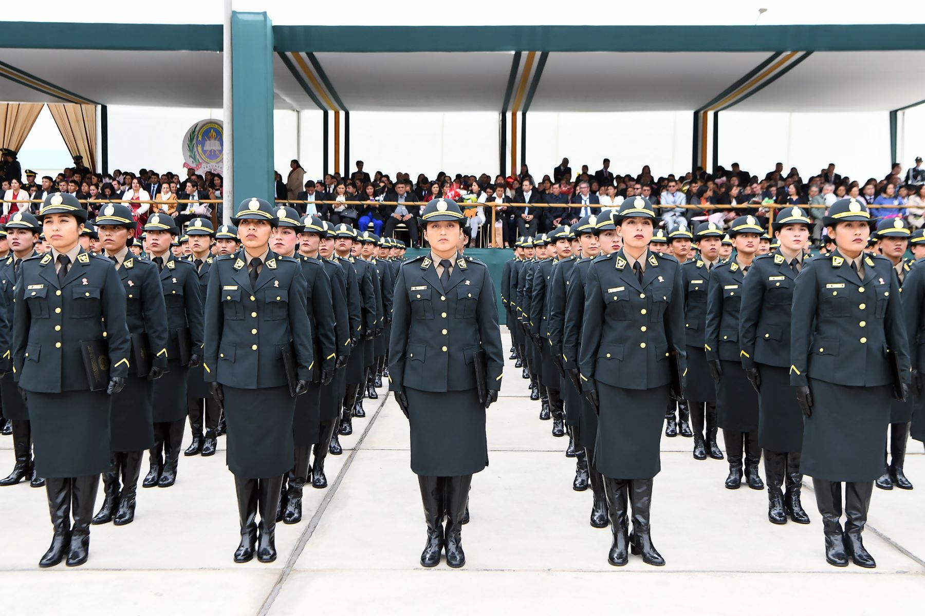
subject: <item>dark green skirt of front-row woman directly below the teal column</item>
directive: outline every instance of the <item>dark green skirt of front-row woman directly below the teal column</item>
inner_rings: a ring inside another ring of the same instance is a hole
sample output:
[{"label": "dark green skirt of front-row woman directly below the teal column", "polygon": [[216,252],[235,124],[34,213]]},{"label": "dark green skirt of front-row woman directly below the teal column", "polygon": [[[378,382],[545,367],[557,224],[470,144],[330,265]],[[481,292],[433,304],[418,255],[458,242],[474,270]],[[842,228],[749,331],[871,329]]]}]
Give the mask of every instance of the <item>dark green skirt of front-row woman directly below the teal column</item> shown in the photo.
[{"label": "dark green skirt of front-row woman directly below the teal column", "polygon": [[289,472],[295,459],[295,398],[290,396],[289,386],[242,390],[224,385],[222,389],[228,423],[228,469],[243,479]]}]

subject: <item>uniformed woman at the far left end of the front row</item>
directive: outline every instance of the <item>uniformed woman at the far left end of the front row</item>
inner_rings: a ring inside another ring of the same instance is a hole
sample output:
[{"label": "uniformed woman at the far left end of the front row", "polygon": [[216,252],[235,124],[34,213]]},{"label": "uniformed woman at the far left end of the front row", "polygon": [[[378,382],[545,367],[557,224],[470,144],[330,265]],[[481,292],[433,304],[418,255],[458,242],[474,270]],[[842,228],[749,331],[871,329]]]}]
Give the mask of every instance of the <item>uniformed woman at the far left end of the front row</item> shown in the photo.
[{"label": "uniformed woman at the far left end of the front row", "polygon": [[39,217],[51,251],[19,266],[13,369],[29,407],[36,472],[45,477],[55,526],[39,566],[58,564],[66,552],[75,566],[87,562],[93,501],[100,473],[110,466],[106,393],[125,385],[129,330],[112,263],[78,243],[85,206],[55,193]]}]

